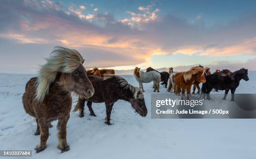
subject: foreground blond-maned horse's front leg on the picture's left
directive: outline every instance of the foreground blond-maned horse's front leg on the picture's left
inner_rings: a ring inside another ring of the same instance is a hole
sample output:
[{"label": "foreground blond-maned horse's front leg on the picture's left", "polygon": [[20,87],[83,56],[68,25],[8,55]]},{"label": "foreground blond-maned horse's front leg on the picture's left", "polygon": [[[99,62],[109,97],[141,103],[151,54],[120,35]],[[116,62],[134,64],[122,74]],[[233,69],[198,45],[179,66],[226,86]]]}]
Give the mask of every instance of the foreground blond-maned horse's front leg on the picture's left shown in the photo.
[{"label": "foreground blond-maned horse's front leg on the picture's left", "polygon": [[49,137],[49,126],[51,122],[37,120],[41,130],[40,145],[35,148],[36,153],[44,151],[46,149],[46,142]]}]

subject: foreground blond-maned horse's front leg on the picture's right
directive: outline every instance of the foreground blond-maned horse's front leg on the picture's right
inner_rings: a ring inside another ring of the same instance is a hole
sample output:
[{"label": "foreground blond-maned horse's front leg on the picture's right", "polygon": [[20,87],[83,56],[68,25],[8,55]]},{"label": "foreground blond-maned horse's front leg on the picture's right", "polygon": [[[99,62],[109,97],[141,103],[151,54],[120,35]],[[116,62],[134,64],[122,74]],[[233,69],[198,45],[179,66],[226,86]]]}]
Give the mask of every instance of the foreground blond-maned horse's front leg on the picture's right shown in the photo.
[{"label": "foreground blond-maned horse's front leg on the picture's right", "polygon": [[69,120],[69,115],[67,117],[58,119],[57,128],[59,129],[59,145],[58,149],[61,150],[61,153],[69,151],[69,145],[67,143],[67,122]]}]

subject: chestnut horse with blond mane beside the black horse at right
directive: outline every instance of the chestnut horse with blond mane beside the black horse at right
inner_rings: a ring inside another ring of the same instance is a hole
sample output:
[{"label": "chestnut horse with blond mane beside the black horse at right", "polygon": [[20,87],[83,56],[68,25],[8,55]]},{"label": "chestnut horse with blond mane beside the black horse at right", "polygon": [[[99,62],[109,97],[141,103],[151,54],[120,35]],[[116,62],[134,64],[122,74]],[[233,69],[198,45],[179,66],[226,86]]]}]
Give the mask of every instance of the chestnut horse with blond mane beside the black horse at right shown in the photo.
[{"label": "chestnut horse with blond mane beside the black horse at right", "polygon": [[179,94],[179,90],[182,89],[182,97],[184,99],[185,90],[187,90],[187,100],[189,100],[189,94],[191,86],[195,80],[205,83],[205,71],[202,67],[194,67],[187,72],[178,72],[174,75],[174,82],[176,84],[176,91]]}]

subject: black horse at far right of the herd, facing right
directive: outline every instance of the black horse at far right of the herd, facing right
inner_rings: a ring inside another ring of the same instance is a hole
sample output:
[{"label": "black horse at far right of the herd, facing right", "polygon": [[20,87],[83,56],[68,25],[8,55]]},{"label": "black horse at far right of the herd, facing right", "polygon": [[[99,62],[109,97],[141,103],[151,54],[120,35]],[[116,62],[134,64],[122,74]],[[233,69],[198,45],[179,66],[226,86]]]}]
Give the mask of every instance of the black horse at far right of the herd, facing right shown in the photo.
[{"label": "black horse at far right of the herd, facing right", "polygon": [[203,96],[203,98],[205,98],[205,94],[207,94],[206,99],[210,100],[210,92],[214,88],[218,90],[225,90],[223,99],[226,99],[230,89],[232,95],[231,101],[234,101],[234,93],[236,88],[239,86],[239,82],[242,79],[245,81],[249,80],[248,69],[241,68],[240,70],[231,73],[229,76],[220,76],[216,74],[207,75],[205,79],[206,82],[202,84],[201,88],[201,96]]}]

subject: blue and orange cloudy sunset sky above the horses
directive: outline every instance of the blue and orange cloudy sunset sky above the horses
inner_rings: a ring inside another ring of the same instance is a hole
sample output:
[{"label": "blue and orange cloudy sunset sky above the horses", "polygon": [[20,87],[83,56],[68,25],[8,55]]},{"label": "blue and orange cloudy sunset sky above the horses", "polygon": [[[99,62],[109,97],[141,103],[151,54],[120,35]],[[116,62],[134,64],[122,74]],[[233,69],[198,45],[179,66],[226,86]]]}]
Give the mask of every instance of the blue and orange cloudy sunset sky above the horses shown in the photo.
[{"label": "blue and orange cloudy sunset sky above the horses", "polygon": [[36,73],[55,46],[86,68],[256,70],[256,1],[0,1],[0,72]]}]

